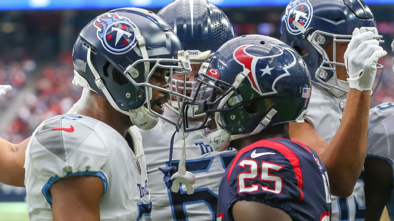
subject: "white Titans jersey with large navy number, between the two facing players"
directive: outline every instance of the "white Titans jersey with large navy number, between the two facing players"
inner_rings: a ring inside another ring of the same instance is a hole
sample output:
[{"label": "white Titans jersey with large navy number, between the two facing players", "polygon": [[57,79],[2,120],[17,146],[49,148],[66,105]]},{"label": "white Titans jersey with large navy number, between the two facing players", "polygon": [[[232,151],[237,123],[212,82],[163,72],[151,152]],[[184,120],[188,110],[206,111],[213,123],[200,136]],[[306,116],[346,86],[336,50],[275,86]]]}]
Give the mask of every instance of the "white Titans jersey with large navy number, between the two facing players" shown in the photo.
[{"label": "white Titans jersey with large navy number, between the two facing players", "polygon": [[[175,119],[177,115],[165,109],[165,116]],[[156,221],[214,221],[217,213],[217,194],[225,168],[236,155],[236,150],[214,151],[207,145],[203,130],[185,134],[186,170],[194,173],[195,192],[186,193],[182,185],[180,192],[167,189],[163,181],[164,173],[159,167],[167,167],[169,146],[175,126],[160,119],[156,127],[149,131],[141,130],[145,154],[147,156],[148,180],[151,184],[152,219]],[[178,166],[182,153],[182,131],[175,135],[173,166]]]}]

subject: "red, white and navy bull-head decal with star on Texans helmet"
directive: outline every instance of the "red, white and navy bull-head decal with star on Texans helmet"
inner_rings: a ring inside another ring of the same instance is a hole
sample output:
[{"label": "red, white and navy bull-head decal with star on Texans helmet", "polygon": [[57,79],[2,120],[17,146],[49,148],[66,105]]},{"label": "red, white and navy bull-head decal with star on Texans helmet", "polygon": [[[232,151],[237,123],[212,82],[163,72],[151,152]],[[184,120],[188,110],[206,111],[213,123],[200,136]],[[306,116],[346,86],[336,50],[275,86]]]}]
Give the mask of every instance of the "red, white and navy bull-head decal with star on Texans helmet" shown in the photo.
[{"label": "red, white and navy bull-head decal with star on Texans helmet", "polygon": [[[243,66],[244,69],[250,70],[247,78],[251,82],[252,88],[260,95],[276,94],[275,84],[279,79],[289,76],[289,68],[296,64],[296,57],[288,49],[278,45],[273,45],[271,53],[264,57],[256,57],[247,52],[248,48],[253,45],[243,45],[234,51],[234,59]],[[283,57],[285,56],[285,57]],[[283,61],[290,61],[288,65],[281,66]],[[261,68],[261,69],[260,69]],[[264,79],[265,88],[261,88],[257,79]],[[267,87],[270,86],[270,87]]]}]

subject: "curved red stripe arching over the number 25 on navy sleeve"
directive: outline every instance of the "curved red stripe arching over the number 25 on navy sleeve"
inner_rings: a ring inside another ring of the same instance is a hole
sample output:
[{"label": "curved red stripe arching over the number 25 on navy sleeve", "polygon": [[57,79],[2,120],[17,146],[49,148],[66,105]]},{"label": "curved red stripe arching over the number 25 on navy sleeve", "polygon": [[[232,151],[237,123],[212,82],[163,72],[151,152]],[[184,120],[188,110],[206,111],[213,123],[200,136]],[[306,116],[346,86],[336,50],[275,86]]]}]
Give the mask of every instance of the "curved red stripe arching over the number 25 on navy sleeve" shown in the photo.
[{"label": "curved red stripe arching over the number 25 on navy sleeve", "polygon": [[299,166],[299,158],[297,157],[296,153],[294,153],[290,148],[288,148],[286,145],[283,145],[281,143],[271,141],[271,140],[260,140],[254,144],[251,144],[247,147],[243,147],[235,156],[234,160],[231,162],[230,168],[229,168],[229,173],[227,174],[227,182],[230,180],[230,175],[232,173],[232,169],[234,169],[235,165],[237,164],[238,160],[240,157],[246,153],[247,151],[250,151],[256,147],[268,147],[271,149],[275,149],[276,151],[280,152],[284,157],[286,157],[290,163],[293,166],[294,173],[296,174],[296,179],[297,179],[297,187],[301,191],[301,196],[299,197],[300,200],[304,198],[304,193],[302,192],[302,186],[303,186],[303,179],[302,179],[302,171],[301,167]]}]

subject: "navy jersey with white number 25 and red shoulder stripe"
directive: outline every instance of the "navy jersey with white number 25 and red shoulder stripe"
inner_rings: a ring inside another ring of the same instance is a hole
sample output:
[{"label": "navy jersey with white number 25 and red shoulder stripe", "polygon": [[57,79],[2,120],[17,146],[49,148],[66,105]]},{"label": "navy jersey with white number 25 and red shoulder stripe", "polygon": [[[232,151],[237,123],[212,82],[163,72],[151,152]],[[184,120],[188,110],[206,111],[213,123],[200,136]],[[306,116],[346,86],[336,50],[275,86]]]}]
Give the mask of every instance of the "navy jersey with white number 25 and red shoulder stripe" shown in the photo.
[{"label": "navy jersey with white number 25 and red shoulder stripe", "polygon": [[295,140],[260,140],[238,152],[221,180],[217,221],[233,221],[231,206],[242,200],[279,208],[294,221],[331,216],[327,171],[315,151]]}]

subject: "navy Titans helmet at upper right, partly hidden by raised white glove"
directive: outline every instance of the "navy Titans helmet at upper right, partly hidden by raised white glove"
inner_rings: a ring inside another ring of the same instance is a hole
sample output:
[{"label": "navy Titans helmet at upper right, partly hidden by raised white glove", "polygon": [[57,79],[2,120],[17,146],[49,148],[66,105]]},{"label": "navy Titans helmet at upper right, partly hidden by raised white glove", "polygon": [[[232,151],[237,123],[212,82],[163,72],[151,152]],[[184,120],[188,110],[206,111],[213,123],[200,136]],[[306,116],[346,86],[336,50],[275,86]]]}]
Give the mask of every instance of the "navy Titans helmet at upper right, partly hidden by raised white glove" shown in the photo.
[{"label": "navy Titans helmet at upper right, partly hidden by raised white glove", "polygon": [[[336,61],[336,45],[350,42],[355,28],[361,32],[373,31],[375,39],[383,42],[374,16],[363,0],[291,0],[282,15],[281,40],[302,55],[312,81],[342,97],[348,92],[349,83],[337,79],[336,65],[345,64]],[[333,61],[324,50],[331,41]],[[383,66],[377,64],[377,68],[382,69],[382,76]]]}]

